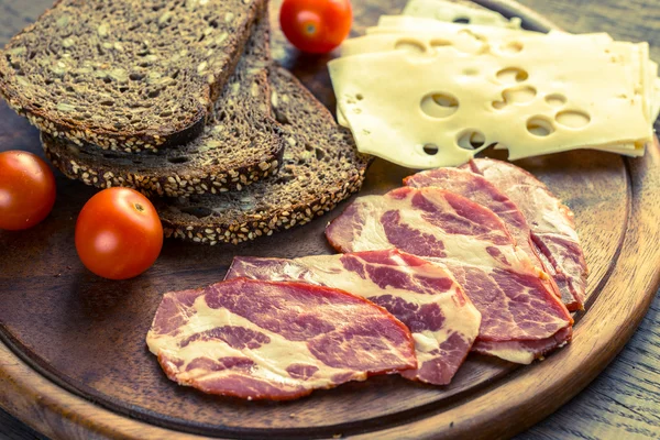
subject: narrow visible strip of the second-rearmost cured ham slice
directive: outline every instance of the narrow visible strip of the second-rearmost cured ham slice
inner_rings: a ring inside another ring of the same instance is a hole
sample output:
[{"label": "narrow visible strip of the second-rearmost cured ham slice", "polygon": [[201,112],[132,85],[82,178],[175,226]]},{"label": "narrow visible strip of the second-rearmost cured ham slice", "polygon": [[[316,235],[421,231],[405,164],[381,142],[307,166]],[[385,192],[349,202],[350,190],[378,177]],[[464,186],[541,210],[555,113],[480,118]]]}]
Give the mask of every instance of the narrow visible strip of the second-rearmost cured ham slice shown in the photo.
[{"label": "narrow visible strip of the second-rearmost cured ham slice", "polygon": [[[469,169],[437,168],[406,177],[404,184],[413,188],[436,186],[459,194],[488,208],[504,221],[509,233],[516,240],[516,245],[525,251],[529,258],[543,272],[550,273],[552,266],[548,264],[549,267],[546,267],[543,260],[539,256],[531,241],[531,230],[522,212],[516,204],[483,176]],[[544,283],[550,290],[562,298],[569,310],[580,308],[580,305],[573,300],[570,293],[566,292],[568,295],[562,296],[552,277],[549,277]]]}]

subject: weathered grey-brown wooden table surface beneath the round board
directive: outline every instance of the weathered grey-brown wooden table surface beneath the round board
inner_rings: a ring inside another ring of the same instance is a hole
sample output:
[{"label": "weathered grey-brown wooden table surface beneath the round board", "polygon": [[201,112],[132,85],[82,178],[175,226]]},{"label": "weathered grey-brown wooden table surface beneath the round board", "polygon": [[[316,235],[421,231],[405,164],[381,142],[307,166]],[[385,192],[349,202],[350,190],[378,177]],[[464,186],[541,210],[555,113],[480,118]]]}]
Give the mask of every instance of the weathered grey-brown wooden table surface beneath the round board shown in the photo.
[{"label": "weathered grey-brown wooden table surface beneath the round board", "polygon": [[[518,1],[570,32],[608,32],[617,40],[648,41],[651,57],[660,63],[660,0]],[[10,30],[34,20],[50,3],[52,0],[0,0],[0,44],[11,36]],[[658,294],[615,361],[559,411],[517,439],[660,439]],[[0,409],[0,439],[43,438]]]}]

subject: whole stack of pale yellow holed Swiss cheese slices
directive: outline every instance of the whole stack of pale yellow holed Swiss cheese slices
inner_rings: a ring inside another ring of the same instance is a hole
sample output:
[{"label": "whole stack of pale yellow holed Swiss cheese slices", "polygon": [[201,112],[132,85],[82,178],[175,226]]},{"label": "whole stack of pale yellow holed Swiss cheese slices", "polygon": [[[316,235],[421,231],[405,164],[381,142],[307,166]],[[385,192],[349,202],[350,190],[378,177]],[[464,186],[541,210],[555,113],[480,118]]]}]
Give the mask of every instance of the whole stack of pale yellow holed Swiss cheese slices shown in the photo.
[{"label": "whole stack of pale yellow holed Swiss cheese slices", "polygon": [[575,148],[640,156],[652,141],[660,86],[648,43],[525,31],[440,0],[404,13],[329,64],[338,119],[361,152],[435,168],[492,145],[515,161]]}]

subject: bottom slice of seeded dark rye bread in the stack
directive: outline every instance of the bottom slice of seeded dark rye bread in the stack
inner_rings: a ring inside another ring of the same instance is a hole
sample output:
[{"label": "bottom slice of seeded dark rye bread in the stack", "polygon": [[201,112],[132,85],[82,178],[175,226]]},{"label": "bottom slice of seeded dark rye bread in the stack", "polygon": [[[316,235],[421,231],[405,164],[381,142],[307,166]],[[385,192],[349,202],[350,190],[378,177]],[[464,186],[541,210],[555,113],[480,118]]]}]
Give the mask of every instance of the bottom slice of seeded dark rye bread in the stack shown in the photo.
[{"label": "bottom slice of seeded dark rye bread in the stack", "polygon": [[304,224],[358,191],[372,158],[298,80],[271,69],[272,105],[288,132],[277,176],[242,191],[156,201],[166,237],[238,244]]}]

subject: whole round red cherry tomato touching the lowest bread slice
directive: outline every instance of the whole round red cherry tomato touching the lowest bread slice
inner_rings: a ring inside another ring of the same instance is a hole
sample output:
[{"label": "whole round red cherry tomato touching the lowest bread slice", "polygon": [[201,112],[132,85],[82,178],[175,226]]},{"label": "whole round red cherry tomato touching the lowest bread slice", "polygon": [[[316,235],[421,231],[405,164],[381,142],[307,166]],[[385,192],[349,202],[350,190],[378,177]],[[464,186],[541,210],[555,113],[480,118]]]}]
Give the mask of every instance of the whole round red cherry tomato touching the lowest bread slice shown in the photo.
[{"label": "whole round red cherry tomato touching the lowest bread slice", "polygon": [[163,226],[142,194],[108,188],[82,207],[76,250],[85,266],[110,279],[128,279],[150,268],[163,248]]}]

